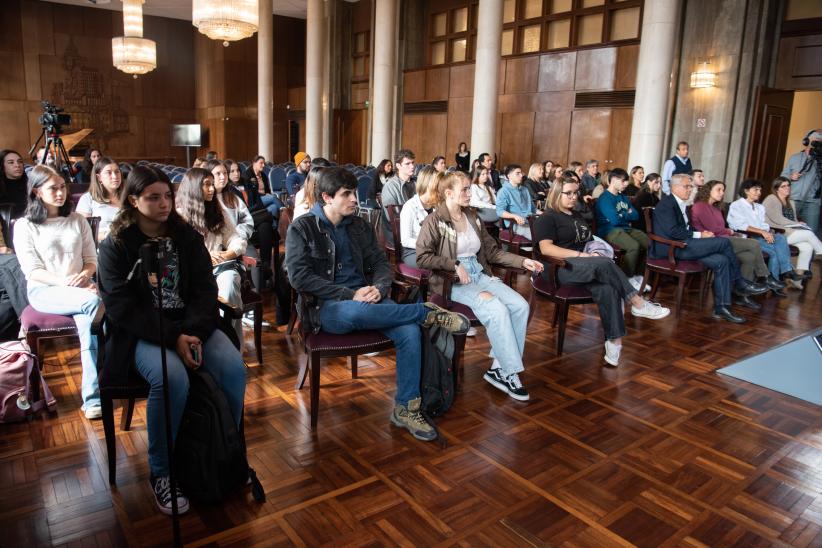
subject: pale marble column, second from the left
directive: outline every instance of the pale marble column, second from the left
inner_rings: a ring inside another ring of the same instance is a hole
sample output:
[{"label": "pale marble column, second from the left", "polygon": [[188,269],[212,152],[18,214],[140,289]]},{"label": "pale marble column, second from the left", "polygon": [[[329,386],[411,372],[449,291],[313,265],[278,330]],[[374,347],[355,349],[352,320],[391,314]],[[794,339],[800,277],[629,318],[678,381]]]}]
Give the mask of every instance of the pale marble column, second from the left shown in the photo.
[{"label": "pale marble column, second from the left", "polygon": [[323,0],[308,0],[305,44],[305,152],[323,154]]}]

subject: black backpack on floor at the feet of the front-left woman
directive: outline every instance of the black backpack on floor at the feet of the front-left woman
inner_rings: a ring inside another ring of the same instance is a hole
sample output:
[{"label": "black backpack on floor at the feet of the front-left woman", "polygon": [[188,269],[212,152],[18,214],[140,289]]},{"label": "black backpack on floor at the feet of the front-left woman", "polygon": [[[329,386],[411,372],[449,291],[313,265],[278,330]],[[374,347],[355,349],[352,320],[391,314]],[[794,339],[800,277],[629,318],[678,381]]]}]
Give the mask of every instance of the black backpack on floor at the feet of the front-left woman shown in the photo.
[{"label": "black backpack on floor at the feet of the front-left woman", "polygon": [[262,485],[246,460],[245,439],[237,430],[225,394],[202,369],[189,370],[188,401],[174,443],[176,480],[189,498],[216,503],[246,485],[265,501]]}]

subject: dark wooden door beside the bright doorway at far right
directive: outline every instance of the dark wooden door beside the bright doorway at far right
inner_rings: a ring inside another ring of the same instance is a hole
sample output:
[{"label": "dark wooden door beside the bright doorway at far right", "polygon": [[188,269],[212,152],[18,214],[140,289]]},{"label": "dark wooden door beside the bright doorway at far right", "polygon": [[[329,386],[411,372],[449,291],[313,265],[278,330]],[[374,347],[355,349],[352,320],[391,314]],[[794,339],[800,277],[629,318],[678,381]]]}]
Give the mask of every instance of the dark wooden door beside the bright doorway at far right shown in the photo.
[{"label": "dark wooden door beside the bright doorway at far right", "polygon": [[[770,183],[782,171],[788,130],[791,125],[793,91],[759,87],[756,91],[745,178]],[[770,191],[770,184],[762,189]],[[766,190],[767,189],[767,190]]]}]

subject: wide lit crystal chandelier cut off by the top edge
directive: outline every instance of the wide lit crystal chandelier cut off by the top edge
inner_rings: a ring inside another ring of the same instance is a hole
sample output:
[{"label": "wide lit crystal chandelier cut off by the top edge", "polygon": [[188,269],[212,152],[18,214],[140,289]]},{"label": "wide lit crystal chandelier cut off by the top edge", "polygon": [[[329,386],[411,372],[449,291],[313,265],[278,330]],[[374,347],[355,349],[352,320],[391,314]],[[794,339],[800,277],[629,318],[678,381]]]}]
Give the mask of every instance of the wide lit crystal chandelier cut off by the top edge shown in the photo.
[{"label": "wide lit crystal chandelier cut off by the top edge", "polygon": [[194,0],[191,22],[212,40],[229,42],[257,32],[260,12],[257,0]]}]

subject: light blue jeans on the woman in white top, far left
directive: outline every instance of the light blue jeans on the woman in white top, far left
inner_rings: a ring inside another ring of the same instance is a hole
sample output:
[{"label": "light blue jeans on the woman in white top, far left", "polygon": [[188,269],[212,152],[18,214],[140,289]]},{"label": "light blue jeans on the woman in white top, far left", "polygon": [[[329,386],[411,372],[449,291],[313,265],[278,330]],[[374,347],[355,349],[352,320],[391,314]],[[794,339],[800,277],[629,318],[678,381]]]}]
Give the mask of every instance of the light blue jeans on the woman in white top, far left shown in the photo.
[{"label": "light blue jeans on the woman in white top, far left", "polygon": [[80,362],[83,381],[80,394],[83,409],[100,405],[100,387],[97,384],[97,338],[91,335],[91,322],[100,307],[100,297],[87,289],[40,285],[28,288],[29,304],[39,312],[71,316],[80,337]]}]

